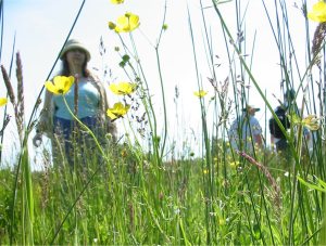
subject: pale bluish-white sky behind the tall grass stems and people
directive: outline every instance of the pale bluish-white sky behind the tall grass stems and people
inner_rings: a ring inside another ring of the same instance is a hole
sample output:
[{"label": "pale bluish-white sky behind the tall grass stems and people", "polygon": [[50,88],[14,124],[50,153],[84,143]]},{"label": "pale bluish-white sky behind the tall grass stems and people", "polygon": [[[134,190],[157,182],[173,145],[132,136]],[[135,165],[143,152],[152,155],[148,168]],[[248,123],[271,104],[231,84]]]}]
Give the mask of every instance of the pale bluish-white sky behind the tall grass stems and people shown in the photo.
[{"label": "pale bluish-white sky behind the tall grass stems and people", "polygon": [[[82,2],[82,0],[4,0],[4,39],[1,64],[9,68],[13,37],[14,34],[16,34],[16,50],[21,52],[23,61],[27,119],[35,104],[36,96],[46,81]],[[204,36],[202,35],[203,25],[200,1],[167,0],[166,2],[167,13],[165,23],[168,25],[168,28],[163,34],[161,40],[160,56],[166,93],[165,96],[167,100],[170,131],[172,133],[170,141],[177,138],[179,144],[181,144],[181,142],[190,141],[189,139],[192,138],[191,132],[195,132],[193,134],[196,135],[200,134],[201,130],[199,101],[193,95],[193,91],[197,91],[198,87],[189,34],[187,3],[195,31],[199,74],[202,79],[203,89],[209,91],[209,96],[213,94],[213,88],[206,79],[211,77],[211,74],[208,68],[204,51],[206,43],[203,41]],[[220,21],[213,8],[209,8],[212,5],[211,1],[205,0],[202,2],[204,7],[208,7],[208,9],[205,9],[205,18],[210,31],[212,33],[213,52],[220,56],[218,60],[216,59],[216,63],[222,64],[221,67],[216,69],[217,79],[218,81],[224,81],[228,76],[229,67]],[[272,105],[276,106],[277,102],[272,94],[274,93],[277,96],[281,96],[277,48],[263,10],[262,1],[241,0],[241,4],[243,4],[241,5],[242,12],[248,2],[246,29],[243,29],[247,47],[246,53],[249,55],[248,61],[253,57],[253,76],[261,86],[261,89],[263,91],[267,90],[267,99]],[[273,15],[274,1],[265,2],[267,8],[271,8],[269,14]],[[294,2],[301,7],[301,1],[291,0],[287,2],[292,42],[296,48],[296,55],[298,55],[300,62],[300,73],[303,74],[306,46],[304,18],[301,11],[293,7]],[[316,1],[311,1],[310,4],[313,2]],[[152,44],[156,43],[160,34],[164,5],[164,0],[125,0],[125,3],[120,5],[111,4],[109,0],[87,0],[71,36],[72,38],[80,39],[89,48],[92,55],[89,65],[90,67],[99,68],[99,75],[101,75],[101,69],[104,65],[111,68],[113,77],[116,78],[114,81],[126,80],[127,77],[117,65],[120,59],[114,51],[114,47],[122,46],[117,35],[109,30],[108,22],[114,22],[117,16],[123,15],[126,11],[138,14],[141,24],[140,28],[133,33],[133,36],[151,87],[150,89],[159,115],[162,114],[161,92],[159,90],[160,83],[155,52]],[[235,37],[235,1],[222,4],[221,11]],[[312,31],[314,28],[315,24],[311,24]],[[251,53],[254,33],[256,34],[255,43],[253,53]],[[101,37],[106,47],[106,55],[103,60],[99,54]],[[127,35],[123,35],[123,37],[126,40],[128,39]],[[14,81],[15,79],[13,79],[13,82]],[[108,82],[113,82],[113,80]],[[248,81],[246,81],[246,83]],[[173,101],[175,86],[178,87],[180,93],[177,112]],[[2,91],[0,96],[4,96],[5,89],[3,82],[0,85],[0,91]],[[111,104],[118,101],[118,98],[114,96],[111,92],[109,92],[109,95],[111,98]],[[261,107],[262,111],[256,114],[256,117],[264,128],[264,103],[253,87],[250,89],[249,103]],[[176,114],[178,115],[177,117]],[[266,115],[267,118],[269,118],[271,113],[267,112]],[[178,129],[176,129],[176,118],[178,118]],[[233,117],[230,117],[230,120],[231,118]],[[181,134],[180,130],[183,131]],[[12,132],[14,132],[13,128]],[[124,129],[120,128],[120,132],[123,133]],[[4,142],[7,142],[4,143],[5,150],[11,148],[12,145],[8,144],[8,138],[4,140]],[[196,144],[193,140],[190,142],[191,144]],[[10,155],[7,154],[7,156]]]}]

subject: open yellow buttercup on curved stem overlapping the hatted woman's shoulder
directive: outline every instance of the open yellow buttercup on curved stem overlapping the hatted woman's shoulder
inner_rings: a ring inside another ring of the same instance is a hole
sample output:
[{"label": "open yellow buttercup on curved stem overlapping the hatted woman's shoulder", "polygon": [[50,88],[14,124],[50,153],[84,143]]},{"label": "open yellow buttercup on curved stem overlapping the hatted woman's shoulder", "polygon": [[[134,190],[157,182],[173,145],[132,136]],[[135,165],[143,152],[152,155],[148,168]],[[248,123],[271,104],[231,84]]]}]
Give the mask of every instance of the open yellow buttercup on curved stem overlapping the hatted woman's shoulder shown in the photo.
[{"label": "open yellow buttercup on curved stem overlapping the hatted woman's shoulder", "polygon": [[75,81],[74,76],[55,76],[52,81],[46,81],[45,87],[54,94],[65,94]]}]

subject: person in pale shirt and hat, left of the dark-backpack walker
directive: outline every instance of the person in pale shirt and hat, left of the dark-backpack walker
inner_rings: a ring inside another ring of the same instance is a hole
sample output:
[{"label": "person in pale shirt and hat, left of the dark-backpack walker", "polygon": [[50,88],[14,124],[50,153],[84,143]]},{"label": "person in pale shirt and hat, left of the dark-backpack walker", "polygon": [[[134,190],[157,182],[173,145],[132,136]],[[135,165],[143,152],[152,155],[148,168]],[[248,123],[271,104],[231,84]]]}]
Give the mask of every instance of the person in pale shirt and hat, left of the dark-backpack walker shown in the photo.
[{"label": "person in pale shirt and hat, left of the dark-backpack walker", "polygon": [[254,117],[260,108],[248,105],[242,109],[242,115],[236,118],[228,131],[230,145],[235,151],[253,153],[255,147],[263,147],[262,128]]}]

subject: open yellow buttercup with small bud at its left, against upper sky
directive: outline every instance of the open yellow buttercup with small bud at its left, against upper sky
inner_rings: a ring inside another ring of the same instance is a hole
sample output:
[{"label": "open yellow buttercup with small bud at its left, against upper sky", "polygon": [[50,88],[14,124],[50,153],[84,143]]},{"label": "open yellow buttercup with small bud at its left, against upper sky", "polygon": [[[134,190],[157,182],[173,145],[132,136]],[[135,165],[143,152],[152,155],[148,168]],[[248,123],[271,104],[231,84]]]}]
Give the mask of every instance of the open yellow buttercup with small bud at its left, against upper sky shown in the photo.
[{"label": "open yellow buttercup with small bud at its left, against upper sky", "polygon": [[109,28],[116,33],[130,33],[140,25],[139,16],[130,12],[125,13],[116,20],[116,24],[109,22]]}]

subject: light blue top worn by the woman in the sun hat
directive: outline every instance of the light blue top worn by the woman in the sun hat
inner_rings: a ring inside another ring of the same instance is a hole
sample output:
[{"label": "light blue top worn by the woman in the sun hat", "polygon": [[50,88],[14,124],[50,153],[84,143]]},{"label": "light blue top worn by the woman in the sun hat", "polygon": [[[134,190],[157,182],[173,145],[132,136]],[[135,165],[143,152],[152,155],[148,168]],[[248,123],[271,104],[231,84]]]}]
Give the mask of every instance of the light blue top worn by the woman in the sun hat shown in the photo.
[{"label": "light blue top worn by the woman in the sun hat", "polygon": [[[75,98],[74,91],[75,91],[75,83],[73,83],[70,91],[63,95],[72,112],[74,112],[74,98]],[[70,112],[66,108],[62,95],[53,95],[53,104],[55,108],[54,116],[64,119],[70,119],[70,120],[73,119]],[[99,113],[99,104],[100,104],[100,92],[97,89],[97,87],[93,85],[93,82],[88,81],[86,78],[80,78],[78,81],[77,117],[82,119],[87,116],[96,116]]]}]

